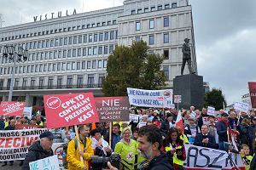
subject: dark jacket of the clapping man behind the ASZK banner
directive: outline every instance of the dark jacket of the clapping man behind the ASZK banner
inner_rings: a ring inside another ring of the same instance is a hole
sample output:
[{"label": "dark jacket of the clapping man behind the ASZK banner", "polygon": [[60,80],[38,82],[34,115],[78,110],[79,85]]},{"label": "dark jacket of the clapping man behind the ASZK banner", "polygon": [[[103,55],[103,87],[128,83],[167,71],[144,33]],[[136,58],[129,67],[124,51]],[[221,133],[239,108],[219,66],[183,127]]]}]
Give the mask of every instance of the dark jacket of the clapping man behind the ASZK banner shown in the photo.
[{"label": "dark jacket of the clapping man behind the ASZK banner", "polygon": [[[202,140],[207,138],[208,138],[208,144],[203,143]],[[197,133],[195,136],[194,145],[212,148],[212,149],[218,149],[214,137],[209,133],[207,135],[203,135],[202,133]]]}]

